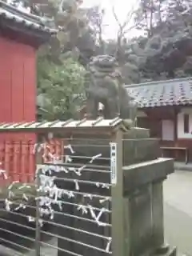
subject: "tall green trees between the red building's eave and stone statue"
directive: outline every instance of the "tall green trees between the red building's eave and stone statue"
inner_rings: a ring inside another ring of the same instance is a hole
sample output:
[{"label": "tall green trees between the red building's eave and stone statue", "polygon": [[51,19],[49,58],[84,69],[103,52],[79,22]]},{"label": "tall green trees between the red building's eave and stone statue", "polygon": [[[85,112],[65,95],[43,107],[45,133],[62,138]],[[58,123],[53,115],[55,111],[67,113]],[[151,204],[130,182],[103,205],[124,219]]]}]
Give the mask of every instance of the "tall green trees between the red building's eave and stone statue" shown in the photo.
[{"label": "tall green trees between the red building's eave and stone statue", "polygon": [[86,64],[85,59],[92,55],[94,40],[81,3],[46,1],[40,6],[58,29],[38,53],[38,106],[43,110],[42,119],[75,118],[78,106],[82,106],[85,69],[80,62]]}]

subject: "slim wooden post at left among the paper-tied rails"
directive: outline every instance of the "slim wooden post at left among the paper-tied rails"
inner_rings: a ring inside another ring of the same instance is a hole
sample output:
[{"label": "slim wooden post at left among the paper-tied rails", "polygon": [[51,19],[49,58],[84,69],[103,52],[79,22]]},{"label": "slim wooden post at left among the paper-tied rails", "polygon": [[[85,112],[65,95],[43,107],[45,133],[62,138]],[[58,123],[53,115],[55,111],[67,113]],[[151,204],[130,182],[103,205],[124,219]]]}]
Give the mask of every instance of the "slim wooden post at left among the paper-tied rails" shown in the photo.
[{"label": "slim wooden post at left among the paper-tied rails", "polygon": [[37,187],[37,198],[36,198],[36,218],[35,218],[35,256],[40,256],[41,254],[41,226],[39,223],[40,219],[40,210],[39,210],[39,192],[38,188],[40,187],[40,177],[38,172],[38,165],[42,164],[42,152],[39,152],[39,150],[36,150],[36,173],[35,173],[35,182]]}]

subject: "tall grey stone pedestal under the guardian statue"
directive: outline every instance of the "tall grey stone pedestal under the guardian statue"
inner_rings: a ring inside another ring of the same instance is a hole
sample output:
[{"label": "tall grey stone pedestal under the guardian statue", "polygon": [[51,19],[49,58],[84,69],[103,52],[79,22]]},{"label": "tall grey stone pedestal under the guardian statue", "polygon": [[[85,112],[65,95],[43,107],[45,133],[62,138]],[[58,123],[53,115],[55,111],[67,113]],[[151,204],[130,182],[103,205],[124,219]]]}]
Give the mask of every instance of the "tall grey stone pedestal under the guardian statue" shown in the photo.
[{"label": "tall grey stone pedestal under the guardian statue", "polygon": [[163,181],[174,172],[172,159],[158,158],[158,140],[133,128],[123,135],[123,201],[126,255],[176,255],[165,246]]}]

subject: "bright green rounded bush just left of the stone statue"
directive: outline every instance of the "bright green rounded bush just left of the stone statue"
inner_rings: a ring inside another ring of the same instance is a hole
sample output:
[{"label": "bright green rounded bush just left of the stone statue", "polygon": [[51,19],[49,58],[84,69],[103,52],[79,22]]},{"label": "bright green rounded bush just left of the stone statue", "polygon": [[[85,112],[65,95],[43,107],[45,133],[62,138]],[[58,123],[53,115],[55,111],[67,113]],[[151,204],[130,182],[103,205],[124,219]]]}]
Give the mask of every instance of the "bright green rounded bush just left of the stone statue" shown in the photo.
[{"label": "bright green rounded bush just left of the stone statue", "polygon": [[38,94],[43,95],[39,105],[46,110],[42,118],[66,120],[75,116],[85,95],[84,74],[84,67],[72,58],[62,65],[46,58],[38,60]]}]

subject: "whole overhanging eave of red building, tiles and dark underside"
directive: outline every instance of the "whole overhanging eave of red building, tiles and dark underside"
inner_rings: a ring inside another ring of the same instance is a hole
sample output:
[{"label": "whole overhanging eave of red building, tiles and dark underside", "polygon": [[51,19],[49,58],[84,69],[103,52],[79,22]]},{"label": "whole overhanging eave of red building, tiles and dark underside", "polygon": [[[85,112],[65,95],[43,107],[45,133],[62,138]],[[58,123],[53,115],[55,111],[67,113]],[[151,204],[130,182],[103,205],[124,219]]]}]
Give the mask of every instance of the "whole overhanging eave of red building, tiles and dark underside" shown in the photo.
[{"label": "whole overhanging eave of red building, tiles and dark underside", "polygon": [[2,36],[12,37],[14,40],[22,38],[26,43],[34,42],[39,46],[56,33],[57,30],[45,26],[42,18],[34,14],[26,14],[0,0],[0,34]]}]

